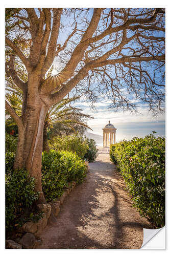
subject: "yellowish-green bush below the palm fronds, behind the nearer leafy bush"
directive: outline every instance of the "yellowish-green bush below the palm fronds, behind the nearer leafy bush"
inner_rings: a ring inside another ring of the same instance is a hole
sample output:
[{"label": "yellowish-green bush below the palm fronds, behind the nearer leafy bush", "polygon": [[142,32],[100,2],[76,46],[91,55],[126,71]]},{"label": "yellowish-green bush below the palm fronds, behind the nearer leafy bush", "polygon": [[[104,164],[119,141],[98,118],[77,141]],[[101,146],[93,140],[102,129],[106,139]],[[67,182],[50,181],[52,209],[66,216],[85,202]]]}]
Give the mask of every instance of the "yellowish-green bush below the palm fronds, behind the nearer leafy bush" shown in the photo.
[{"label": "yellowish-green bush below the palm fronds, behind the nearer leafy bush", "polygon": [[77,135],[54,137],[49,141],[49,147],[55,151],[76,152],[81,159],[84,159],[84,155],[88,150],[86,140]]}]

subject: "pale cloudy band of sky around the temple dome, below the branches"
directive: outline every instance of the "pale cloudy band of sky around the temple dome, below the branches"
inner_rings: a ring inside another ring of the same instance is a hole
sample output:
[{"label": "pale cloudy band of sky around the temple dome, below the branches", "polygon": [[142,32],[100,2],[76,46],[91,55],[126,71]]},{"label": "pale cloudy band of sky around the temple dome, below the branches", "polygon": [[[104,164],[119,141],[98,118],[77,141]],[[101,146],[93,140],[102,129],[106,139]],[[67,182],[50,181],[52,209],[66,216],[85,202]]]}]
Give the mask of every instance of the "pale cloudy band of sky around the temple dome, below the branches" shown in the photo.
[{"label": "pale cloudy band of sky around the temple dome, below the branches", "polygon": [[94,118],[87,121],[87,124],[93,130],[89,130],[90,133],[103,135],[102,128],[110,121],[117,129],[116,142],[123,139],[130,140],[133,137],[144,137],[152,131],[157,132],[156,137],[165,137],[165,115],[153,117],[144,105],[141,105],[138,109],[141,114],[109,110],[109,101],[95,103],[95,111],[90,108],[87,102],[77,102],[75,105]]}]

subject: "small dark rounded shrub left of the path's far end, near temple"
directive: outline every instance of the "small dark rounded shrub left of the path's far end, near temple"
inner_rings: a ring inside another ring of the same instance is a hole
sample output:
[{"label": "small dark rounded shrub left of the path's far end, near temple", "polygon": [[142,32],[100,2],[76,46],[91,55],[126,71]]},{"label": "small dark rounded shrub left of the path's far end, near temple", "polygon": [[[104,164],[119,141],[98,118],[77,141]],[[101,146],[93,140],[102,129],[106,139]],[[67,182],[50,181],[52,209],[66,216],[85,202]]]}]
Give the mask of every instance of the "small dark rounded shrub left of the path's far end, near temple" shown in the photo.
[{"label": "small dark rounded shrub left of the path's far end, near temple", "polygon": [[84,158],[87,159],[89,162],[94,162],[96,157],[98,156],[98,148],[96,146],[95,140],[87,138],[86,142],[89,148],[84,155]]}]

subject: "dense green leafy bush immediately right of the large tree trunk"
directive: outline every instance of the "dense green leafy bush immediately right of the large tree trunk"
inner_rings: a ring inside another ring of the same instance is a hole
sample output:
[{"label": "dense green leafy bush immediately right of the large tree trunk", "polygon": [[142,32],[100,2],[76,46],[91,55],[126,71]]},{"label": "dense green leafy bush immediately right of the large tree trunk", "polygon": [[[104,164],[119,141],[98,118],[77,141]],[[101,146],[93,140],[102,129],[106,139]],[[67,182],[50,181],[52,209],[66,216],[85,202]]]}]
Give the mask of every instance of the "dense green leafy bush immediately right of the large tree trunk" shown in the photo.
[{"label": "dense green leafy bush immediately right of the large tree trunk", "polygon": [[60,197],[68,182],[81,183],[85,176],[85,163],[76,153],[54,150],[42,153],[42,189],[47,201]]}]

